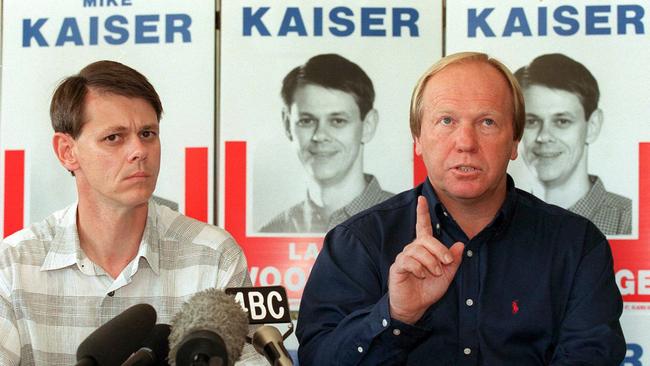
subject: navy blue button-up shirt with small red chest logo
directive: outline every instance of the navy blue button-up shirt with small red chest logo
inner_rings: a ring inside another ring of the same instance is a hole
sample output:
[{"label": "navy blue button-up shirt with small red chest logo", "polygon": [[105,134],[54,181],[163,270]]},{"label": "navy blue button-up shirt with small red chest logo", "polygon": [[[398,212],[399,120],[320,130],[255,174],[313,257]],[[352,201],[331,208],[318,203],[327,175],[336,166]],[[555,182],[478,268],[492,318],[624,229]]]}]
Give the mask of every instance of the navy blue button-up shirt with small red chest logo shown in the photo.
[{"label": "navy blue button-up shirt with small red chest logo", "polygon": [[[391,319],[388,273],[415,238],[417,197],[434,235],[465,244],[447,293],[414,325]],[[516,189],[471,240],[427,180],[331,230],[297,325],[304,365],[619,365],[622,299],[605,236]]]}]

